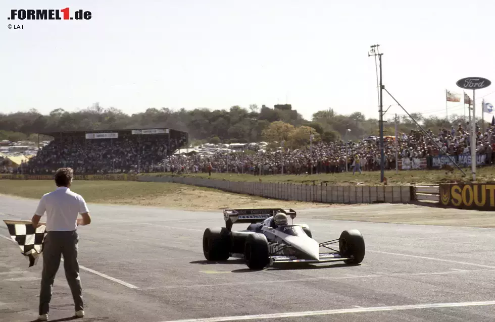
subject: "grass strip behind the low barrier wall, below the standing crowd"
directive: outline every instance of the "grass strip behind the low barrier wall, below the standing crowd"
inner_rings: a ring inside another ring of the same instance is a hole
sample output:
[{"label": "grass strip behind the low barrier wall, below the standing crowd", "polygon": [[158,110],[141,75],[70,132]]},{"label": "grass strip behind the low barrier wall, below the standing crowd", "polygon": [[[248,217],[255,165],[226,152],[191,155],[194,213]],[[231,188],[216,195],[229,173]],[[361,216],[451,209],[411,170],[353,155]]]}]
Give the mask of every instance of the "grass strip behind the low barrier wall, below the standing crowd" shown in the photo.
[{"label": "grass strip behind the low barrier wall, below the standing crowd", "polygon": [[[454,174],[446,174],[444,170],[409,170],[385,171],[389,185],[429,185],[439,183],[454,183],[454,182],[471,182],[472,175],[470,168],[464,168],[466,176],[456,170]],[[172,175],[171,173],[153,173],[143,174],[144,176],[179,176],[191,178],[209,178],[207,173]],[[338,174],[320,174],[320,175],[273,175],[273,176],[254,176],[248,174],[228,174],[228,173],[212,173],[211,179],[228,180],[228,181],[243,181],[243,182],[262,182],[273,183],[299,183],[299,184],[315,184],[327,183],[332,185],[380,185],[380,172],[363,172],[353,176],[352,171],[348,173]],[[484,167],[476,169],[476,182],[492,182],[495,181],[495,167]]]}]

